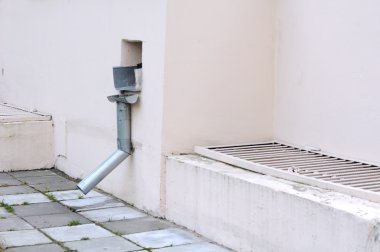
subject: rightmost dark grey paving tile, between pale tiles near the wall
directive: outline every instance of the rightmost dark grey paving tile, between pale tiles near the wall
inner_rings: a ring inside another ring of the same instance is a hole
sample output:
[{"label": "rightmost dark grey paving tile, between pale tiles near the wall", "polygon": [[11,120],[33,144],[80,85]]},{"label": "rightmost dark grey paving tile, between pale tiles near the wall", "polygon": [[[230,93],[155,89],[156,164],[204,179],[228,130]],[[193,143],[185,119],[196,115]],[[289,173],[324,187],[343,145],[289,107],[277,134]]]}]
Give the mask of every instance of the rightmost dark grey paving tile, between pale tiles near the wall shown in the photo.
[{"label": "rightmost dark grey paving tile, between pale tiles near the wall", "polygon": [[121,233],[123,235],[165,229],[174,226],[169,222],[153,217],[111,221],[102,223],[102,225],[112,232]]}]

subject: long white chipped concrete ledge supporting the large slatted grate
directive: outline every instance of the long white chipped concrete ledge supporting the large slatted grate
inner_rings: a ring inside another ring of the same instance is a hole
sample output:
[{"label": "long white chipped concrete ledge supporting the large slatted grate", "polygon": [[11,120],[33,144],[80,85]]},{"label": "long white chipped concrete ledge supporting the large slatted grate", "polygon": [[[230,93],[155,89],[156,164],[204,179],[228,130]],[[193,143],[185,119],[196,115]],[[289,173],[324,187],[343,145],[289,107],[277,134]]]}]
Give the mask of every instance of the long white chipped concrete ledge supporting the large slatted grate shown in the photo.
[{"label": "long white chipped concrete ledge supporting the large slatted grate", "polygon": [[196,155],[167,158],[166,218],[236,251],[380,251],[380,204]]}]

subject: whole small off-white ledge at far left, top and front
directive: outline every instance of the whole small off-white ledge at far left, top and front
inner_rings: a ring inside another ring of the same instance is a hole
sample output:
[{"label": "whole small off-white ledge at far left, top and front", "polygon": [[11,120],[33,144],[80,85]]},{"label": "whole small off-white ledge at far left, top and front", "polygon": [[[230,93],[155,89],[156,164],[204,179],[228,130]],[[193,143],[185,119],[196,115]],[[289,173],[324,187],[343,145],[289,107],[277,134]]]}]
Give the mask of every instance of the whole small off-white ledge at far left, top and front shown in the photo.
[{"label": "whole small off-white ledge at far left, top and front", "polygon": [[51,168],[53,132],[50,115],[0,103],[0,171]]}]

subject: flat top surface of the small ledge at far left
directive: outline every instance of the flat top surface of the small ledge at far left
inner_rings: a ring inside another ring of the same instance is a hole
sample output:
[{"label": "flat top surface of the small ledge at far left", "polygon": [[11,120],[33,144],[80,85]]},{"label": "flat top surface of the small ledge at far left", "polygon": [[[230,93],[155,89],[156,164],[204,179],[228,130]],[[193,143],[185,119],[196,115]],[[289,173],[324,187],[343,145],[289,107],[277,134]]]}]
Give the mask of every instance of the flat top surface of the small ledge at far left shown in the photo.
[{"label": "flat top surface of the small ledge at far left", "polygon": [[51,120],[51,116],[40,112],[28,111],[7,103],[0,103],[0,122],[2,123],[46,120]]}]

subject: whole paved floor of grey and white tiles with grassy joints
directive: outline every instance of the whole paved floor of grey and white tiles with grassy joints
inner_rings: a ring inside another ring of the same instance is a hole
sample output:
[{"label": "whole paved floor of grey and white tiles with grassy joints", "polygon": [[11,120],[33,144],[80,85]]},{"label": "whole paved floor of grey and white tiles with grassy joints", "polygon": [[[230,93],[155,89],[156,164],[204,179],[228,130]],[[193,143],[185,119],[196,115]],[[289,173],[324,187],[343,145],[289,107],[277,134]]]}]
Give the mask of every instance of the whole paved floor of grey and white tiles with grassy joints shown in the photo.
[{"label": "whole paved floor of grey and white tiles with grassy joints", "polygon": [[229,250],[54,170],[0,173],[0,251]]}]

